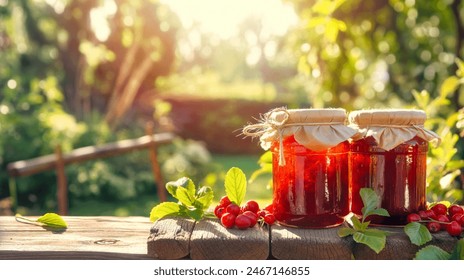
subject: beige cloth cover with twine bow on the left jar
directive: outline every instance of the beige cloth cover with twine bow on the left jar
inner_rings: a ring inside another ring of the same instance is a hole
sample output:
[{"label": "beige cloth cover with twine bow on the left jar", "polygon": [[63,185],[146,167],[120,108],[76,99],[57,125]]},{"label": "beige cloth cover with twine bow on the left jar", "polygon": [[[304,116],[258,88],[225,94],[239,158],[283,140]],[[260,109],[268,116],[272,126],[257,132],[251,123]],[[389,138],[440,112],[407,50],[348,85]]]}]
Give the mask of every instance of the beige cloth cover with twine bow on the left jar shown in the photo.
[{"label": "beige cloth cover with twine bow on the left jar", "polygon": [[298,144],[313,151],[321,151],[348,140],[357,130],[345,125],[344,109],[286,109],[275,108],[256,124],[242,130],[245,136],[259,137],[261,147],[268,150],[272,142],[279,142],[279,165],[285,165],[283,140],[294,136]]}]

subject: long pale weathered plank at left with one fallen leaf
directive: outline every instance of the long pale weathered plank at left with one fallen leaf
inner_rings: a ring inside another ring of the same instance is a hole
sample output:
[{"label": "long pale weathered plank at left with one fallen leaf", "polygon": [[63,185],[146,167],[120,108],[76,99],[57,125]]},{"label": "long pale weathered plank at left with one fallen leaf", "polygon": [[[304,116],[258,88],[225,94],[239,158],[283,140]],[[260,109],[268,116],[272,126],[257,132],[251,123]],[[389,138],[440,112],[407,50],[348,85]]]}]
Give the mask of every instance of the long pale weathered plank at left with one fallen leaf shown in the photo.
[{"label": "long pale weathered plank at left with one fallen leaf", "polygon": [[53,232],[0,217],[0,259],[149,259],[146,217],[64,219],[68,229]]}]

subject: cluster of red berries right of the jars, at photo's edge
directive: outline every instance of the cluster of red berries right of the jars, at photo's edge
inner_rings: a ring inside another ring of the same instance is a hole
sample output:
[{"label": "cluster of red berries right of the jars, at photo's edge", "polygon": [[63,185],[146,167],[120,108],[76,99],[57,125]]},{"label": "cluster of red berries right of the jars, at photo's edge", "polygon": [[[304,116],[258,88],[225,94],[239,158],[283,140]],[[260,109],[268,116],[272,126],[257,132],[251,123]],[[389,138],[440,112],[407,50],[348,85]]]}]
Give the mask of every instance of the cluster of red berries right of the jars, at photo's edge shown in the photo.
[{"label": "cluster of red berries right of the jars, at photo's edge", "polygon": [[409,214],[407,219],[408,223],[427,223],[427,229],[432,233],[446,230],[451,236],[460,236],[464,227],[464,209],[456,204],[446,207],[437,203],[428,210]]}]

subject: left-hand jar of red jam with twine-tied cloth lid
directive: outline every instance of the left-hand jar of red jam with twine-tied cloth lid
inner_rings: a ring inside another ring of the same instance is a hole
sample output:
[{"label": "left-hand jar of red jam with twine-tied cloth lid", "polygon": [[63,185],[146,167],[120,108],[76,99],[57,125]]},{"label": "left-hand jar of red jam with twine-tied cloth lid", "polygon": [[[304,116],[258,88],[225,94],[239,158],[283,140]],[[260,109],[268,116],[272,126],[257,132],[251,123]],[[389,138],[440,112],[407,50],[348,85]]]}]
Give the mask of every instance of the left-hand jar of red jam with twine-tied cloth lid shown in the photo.
[{"label": "left-hand jar of red jam with twine-tied cloth lid", "polygon": [[326,228],[349,214],[348,139],[356,130],[345,123],[344,109],[276,109],[258,124],[261,145],[273,155],[279,224]]}]

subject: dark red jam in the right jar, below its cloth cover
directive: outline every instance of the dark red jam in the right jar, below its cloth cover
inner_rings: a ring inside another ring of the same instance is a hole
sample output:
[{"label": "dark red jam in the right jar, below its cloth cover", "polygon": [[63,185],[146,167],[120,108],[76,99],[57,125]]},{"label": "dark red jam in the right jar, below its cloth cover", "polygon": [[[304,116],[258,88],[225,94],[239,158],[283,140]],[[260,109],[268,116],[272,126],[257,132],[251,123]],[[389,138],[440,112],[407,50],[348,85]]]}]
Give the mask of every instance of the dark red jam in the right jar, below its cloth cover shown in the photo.
[{"label": "dark red jam in the right jar, below its cloth cover", "polygon": [[373,223],[404,225],[406,216],[426,209],[426,161],[428,142],[415,137],[385,151],[372,137],[350,145],[351,211],[361,215],[359,190],[371,187],[390,217],[372,216]]}]

